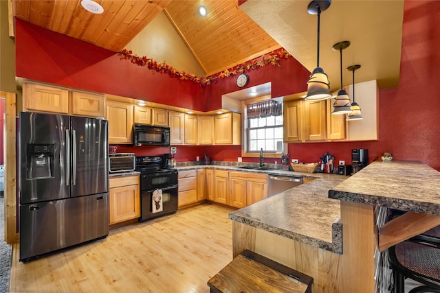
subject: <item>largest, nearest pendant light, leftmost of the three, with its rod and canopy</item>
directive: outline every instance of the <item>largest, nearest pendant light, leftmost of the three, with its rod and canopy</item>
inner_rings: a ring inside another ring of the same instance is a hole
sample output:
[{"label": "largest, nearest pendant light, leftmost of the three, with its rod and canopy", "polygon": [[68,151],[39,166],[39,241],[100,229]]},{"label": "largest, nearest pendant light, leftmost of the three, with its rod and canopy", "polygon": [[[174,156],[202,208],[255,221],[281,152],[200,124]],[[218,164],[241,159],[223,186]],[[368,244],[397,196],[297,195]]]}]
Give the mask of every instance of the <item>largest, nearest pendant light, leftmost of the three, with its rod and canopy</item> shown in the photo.
[{"label": "largest, nearest pendant light, leftmost of the three, with its rod and canopy", "polygon": [[321,12],[330,7],[331,0],[314,0],[309,3],[307,11],[309,14],[318,14],[318,49],[316,68],[311,72],[309,81],[307,82],[307,95],[305,99],[308,101],[321,101],[329,99],[331,94],[329,92],[330,82],[329,76],[324,72],[324,69],[319,67],[319,34],[320,34],[320,15]]}]

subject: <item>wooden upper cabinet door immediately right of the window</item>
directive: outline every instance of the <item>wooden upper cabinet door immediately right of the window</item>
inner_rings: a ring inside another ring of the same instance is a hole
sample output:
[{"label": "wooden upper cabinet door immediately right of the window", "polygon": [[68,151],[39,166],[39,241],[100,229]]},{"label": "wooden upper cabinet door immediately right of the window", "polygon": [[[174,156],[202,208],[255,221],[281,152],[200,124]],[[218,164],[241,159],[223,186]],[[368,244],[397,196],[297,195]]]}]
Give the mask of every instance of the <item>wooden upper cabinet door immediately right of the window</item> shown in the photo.
[{"label": "wooden upper cabinet door immediately right of the window", "polygon": [[284,104],[284,141],[301,141],[303,124],[303,101],[296,100]]}]

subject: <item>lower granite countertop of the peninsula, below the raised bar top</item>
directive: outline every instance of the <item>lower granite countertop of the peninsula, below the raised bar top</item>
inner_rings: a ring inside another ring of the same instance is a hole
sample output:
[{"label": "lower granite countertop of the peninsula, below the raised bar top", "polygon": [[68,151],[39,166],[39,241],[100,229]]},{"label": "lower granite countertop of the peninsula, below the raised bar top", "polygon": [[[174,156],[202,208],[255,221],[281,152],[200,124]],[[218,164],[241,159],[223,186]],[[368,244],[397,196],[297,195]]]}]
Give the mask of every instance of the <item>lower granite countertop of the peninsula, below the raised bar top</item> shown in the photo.
[{"label": "lower granite countertop of the peninsula, below the raised bar top", "polygon": [[333,253],[342,253],[340,201],[329,199],[327,191],[346,178],[320,174],[320,178],[309,183],[234,211],[229,218]]}]

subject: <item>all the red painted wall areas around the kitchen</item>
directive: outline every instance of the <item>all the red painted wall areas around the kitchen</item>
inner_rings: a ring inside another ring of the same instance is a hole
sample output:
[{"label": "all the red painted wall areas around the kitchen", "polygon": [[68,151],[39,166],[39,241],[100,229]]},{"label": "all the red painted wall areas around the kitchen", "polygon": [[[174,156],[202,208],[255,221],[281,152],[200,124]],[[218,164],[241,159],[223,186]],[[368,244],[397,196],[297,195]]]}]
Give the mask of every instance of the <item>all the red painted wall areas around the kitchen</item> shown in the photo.
[{"label": "all the red painted wall areas around the kitchen", "polygon": [[[341,143],[289,143],[292,159],[318,161],[325,152],[336,161],[351,162],[351,149],[369,149],[370,161],[382,152],[395,159],[422,161],[440,170],[440,1],[405,1],[400,84],[380,90],[380,141]],[[166,75],[148,72],[104,49],[17,21],[17,75],[102,93],[147,99],[152,102],[213,110],[223,93],[236,91],[235,77],[219,80],[206,89]],[[113,55],[112,55],[113,54]],[[309,72],[295,60],[281,67],[251,71],[250,84],[272,82],[274,97],[305,91]],[[176,98],[176,93],[179,95]],[[206,101],[206,102],[205,102]],[[206,104],[205,104],[206,103]],[[168,148],[129,148],[136,154],[162,154]],[[214,161],[236,161],[237,146],[177,146],[177,161],[195,161],[206,152]],[[258,161],[245,159],[243,161]],[[267,162],[271,163],[269,160]]]}]

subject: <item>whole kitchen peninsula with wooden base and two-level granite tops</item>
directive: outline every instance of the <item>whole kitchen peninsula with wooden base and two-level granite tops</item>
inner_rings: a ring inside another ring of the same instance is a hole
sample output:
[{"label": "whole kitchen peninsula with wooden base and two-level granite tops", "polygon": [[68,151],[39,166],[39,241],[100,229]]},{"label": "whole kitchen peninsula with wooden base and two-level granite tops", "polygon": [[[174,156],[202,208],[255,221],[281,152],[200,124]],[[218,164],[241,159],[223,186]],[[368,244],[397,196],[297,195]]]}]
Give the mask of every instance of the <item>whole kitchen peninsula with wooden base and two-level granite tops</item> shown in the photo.
[{"label": "whole kitchen peninsula with wooden base and two-level granite tops", "polygon": [[[440,173],[422,163],[374,162],[340,180],[316,175],[230,213],[234,257],[249,249],[308,274],[313,292],[375,292],[379,252],[440,224]],[[379,228],[386,209],[377,207],[408,213]]]}]

